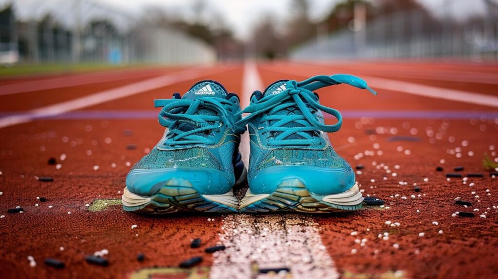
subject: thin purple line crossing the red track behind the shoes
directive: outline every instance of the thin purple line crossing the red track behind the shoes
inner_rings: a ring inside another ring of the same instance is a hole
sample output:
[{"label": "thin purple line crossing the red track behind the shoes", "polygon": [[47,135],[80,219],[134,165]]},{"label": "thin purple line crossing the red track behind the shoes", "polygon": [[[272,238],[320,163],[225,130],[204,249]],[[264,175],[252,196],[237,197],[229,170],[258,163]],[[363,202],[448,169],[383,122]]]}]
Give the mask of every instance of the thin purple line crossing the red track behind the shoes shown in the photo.
[{"label": "thin purple line crossing the red track behind the shoes", "polygon": [[[35,117],[36,119],[152,119],[157,118],[159,110],[80,110],[62,113],[55,116]],[[0,117],[25,115],[29,113],[0,112]],[[498,112],[493,111],[457,111],[457,110],[343,110],[341,114],[344,118],[387,118],[387,119],[471,119],[471,118],[498,118]],[[325,118],[333,118],[330,114],[325,114]]]}]

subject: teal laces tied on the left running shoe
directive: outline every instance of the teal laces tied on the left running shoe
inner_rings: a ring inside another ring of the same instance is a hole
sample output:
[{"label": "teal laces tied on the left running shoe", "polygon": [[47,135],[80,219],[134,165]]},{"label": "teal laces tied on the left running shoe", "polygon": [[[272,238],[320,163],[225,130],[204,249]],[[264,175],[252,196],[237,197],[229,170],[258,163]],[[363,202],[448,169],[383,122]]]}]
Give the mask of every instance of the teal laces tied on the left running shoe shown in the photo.
[{"label": "teal laces tied on the left running shoe", "polygon": [[[201,132],[211,132],[220,129],[223,124],[228,124],[234,131],[241,132],[241,127],[234,123],[233,116],[224,107],[232,104],[229,100],[215,97],[202,99],[157,99],[155,107],[162,107],[159,112],[159,123],[169,129],[164,145],[207,144],[215,142],[206,136],[198,135]],[[211,109],[218,115],[198,113],[200,109]],[[182,125],[192,125],[196,128],[185,131]],[[242,132],[244,132],[242,128]],[[208,133],[209,134],[209,133]],[[208,135],[206,134],[206,135]]]}]

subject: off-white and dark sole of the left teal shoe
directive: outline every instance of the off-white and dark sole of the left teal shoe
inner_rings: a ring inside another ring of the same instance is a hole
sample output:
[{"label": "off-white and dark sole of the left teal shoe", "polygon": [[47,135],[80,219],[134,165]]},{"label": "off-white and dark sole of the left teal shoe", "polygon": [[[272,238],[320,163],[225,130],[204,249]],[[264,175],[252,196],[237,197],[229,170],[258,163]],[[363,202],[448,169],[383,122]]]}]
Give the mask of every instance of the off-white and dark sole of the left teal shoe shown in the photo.
[{"label": "off-white and dark sole of the left teal shoe", "polygon": [[[247,171],[244,169],[237,185],[246,183]],[[203,195],[186,179],[173,178],[164,183],[155,194],[143,196],[130,192],[126,187],[122,195],[123,209],[137,213],[175,213],[175,212],[237,212],[239,201],[233,191],[219,195]]]}]

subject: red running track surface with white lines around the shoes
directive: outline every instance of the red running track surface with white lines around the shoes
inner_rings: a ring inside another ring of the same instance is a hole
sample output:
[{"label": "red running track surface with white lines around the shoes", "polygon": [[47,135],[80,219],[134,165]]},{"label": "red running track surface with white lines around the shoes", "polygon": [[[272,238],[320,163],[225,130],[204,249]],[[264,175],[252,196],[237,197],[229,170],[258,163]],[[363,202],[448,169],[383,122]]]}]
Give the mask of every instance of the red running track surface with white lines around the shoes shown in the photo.
[{"label": "red running track surface with white lines around the shoes", "polygon": [[[378,92],[373,96],[345,85],[318,91],[323,104],[345,117],[341,131],[331,134],[334,146],[353,166],[365,166],[357,180],[365,195],[384,199],[385,207],[331,216],[151,218],[110,205],[121,196],[129,165],[162,134],[152,99],[184,93],[199,79],[214,79],[247,104],[253,90],[275,80],[335,73],[363,77]],[[497,89],[496,64],[457,62],[247,62],[1,79],[0,215],[5,217],[0,219],[0,274],[264,278],[254,273],[257,266],[288,267],[294,278],[496,275],[498,183],[481,161],[484,153],[497,158]],[[59,169],[47,165],[51,157]],[[464,174],[483,173],[485,178],[446,181],[436,166],[445,172],[464,166]],[[54,182],[35,179],[47,176]],[[413,190],[414,183],[420,192]],[[37,196],[48,200],[40,202]],[[473,205],[456,205],[456,197]],[[89,211],[86,204],[106,209]],[[6,213],[15,206],[24,212]],[[476,216],[452,217],[456,211]],[[189,248],[197,237],[202,249]],[[216,243],[227,249],[203,252]],[[109,267],[85,263],[85,255],[102,249],[109,250]],[[135,260],[138,253],[145,255],[144,262]],[[176,268],[198,255],[204,256],[198,268]],[[44,266],[49,257],[64,260],[66,268]]]}]

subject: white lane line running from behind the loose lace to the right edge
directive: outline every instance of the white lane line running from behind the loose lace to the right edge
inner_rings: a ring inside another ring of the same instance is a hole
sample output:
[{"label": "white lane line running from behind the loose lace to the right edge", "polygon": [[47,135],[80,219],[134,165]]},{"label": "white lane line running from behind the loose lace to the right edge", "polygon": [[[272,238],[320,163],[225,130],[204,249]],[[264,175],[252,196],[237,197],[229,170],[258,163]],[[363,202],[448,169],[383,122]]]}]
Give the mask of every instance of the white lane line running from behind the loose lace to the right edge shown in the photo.
[{"label": "white lane line running from behind the loose lace to the right edge", "polygon": [[[291,72],[286,69],[268,69],[272,72],[279,72],[293,76],[303,76],[299,72]],[[498,107],[498,96],[473,93],[468,91],[446,89],[434,86],[427,86],[409,82],[394,81],[370,76],[361,76],[373,89],[389,90],[400,93],[408,93],[430,98],[445,99],[484,106]]]}]

